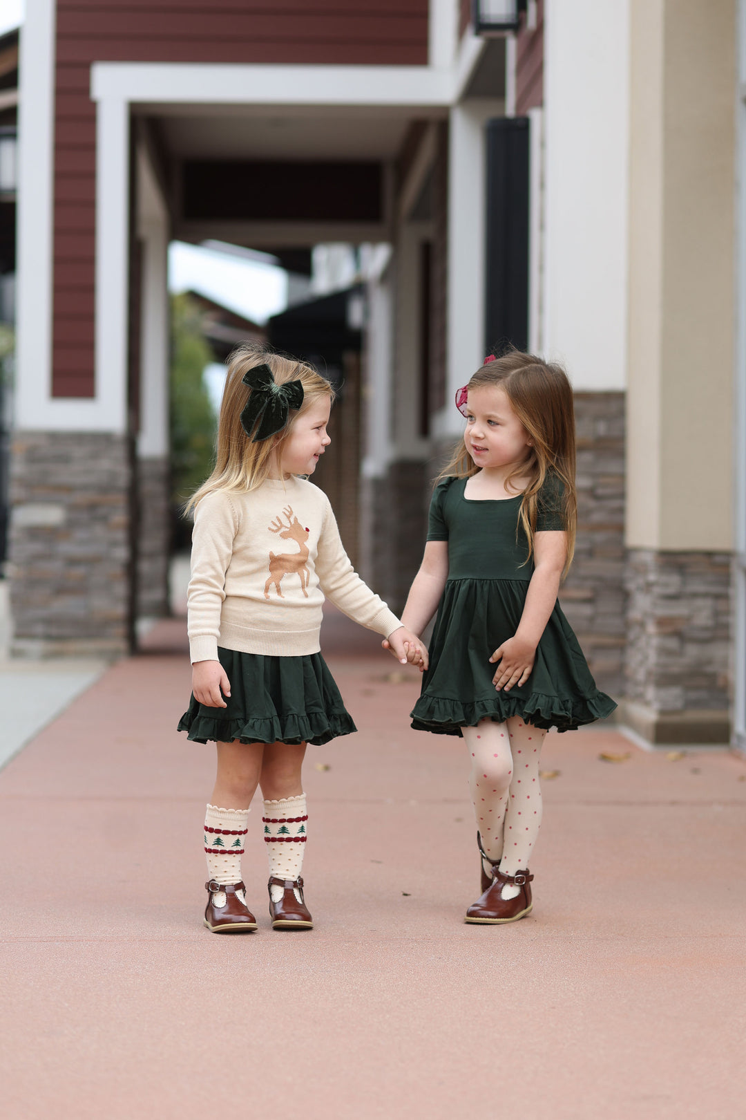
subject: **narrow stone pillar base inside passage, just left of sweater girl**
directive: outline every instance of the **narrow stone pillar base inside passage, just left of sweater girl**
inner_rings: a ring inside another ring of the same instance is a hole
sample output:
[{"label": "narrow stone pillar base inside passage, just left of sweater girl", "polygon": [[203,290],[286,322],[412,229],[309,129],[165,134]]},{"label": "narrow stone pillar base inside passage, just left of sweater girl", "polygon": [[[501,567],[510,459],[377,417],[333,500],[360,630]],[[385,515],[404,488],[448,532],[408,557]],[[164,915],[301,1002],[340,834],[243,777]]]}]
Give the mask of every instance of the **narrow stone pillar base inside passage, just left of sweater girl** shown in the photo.
[{"label": "narrow stone pillar base inside passage, just left of sweater girl", "polygon": [[169,461],[138,459],[138,617],[169,612]]}]

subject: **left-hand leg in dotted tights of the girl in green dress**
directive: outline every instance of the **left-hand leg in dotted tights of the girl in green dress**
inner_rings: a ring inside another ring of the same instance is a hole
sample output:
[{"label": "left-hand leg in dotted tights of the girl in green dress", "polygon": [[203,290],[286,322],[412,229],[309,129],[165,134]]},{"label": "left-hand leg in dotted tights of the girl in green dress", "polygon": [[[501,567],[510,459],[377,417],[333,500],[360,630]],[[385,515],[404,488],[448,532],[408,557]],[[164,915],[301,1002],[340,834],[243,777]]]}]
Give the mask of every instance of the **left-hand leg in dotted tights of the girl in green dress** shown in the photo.
[{"label": "left-hand leg in dotted tights of the girl in green dress", "polygon": [[[503,825],[508,791],[513,773],[510,736],[504,724],[482,719],[476,727],[462,727],[469,750],[469,788],[476,816],[482,848],[492,860],[499,860],[503,849]],[[484,870],[490,872],[489,866]]]}]

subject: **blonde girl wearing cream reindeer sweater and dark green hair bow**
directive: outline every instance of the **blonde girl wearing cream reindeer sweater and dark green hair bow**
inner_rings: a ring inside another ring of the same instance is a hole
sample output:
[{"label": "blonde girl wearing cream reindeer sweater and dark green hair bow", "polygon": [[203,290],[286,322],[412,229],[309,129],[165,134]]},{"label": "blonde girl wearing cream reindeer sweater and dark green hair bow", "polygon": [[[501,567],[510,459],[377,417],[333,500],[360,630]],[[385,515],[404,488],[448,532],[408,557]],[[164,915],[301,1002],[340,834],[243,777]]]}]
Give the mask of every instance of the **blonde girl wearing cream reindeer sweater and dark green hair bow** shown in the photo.
[{"label": "blonde girl wearing cream reindeer sweater and dark green hair bow", "polygon": [[424,668],[426,652],[356,575],[327,496],[312,483],[333,392],[310,366],[257,347],[229,362],[215,470],[193,510],[188,633],[192,697],[179,730],[217,744],[205,818],[214,933],[257,923],[240,857],[257,785],[275,930],[310,928],[301,868],[308,810],[306,743],[356,730],[319,647],[324,596],[391,652]]}]

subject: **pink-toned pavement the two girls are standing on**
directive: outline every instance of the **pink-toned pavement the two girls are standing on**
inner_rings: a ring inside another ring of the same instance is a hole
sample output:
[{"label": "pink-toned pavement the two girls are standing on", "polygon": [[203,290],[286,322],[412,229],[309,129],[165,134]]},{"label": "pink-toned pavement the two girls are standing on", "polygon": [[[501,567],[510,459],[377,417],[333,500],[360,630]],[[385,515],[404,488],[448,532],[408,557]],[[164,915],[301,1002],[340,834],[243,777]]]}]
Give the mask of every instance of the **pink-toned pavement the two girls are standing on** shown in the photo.
[{"label": "pink-toned pavement the two girls are standing on", "polygon": [[463,744],[409,729],[418,676],[375,635],[324,625],[360,731],[309,749],[312,932],[270,928],[256,803],[259,931],[201,925],[183,623],[0,774],[4,1120],[743,1120],[744,762],[551,734],[533,913],[465,925]]}]

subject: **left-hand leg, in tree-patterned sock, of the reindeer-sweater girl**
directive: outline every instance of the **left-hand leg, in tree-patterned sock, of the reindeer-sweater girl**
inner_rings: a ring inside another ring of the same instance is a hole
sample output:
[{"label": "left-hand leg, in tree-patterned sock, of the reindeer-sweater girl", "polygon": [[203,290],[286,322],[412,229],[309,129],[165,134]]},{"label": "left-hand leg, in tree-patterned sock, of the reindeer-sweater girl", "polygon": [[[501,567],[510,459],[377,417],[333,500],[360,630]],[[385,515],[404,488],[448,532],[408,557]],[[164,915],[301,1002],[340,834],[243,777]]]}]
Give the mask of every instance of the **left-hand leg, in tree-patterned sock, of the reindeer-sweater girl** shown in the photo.
[{"label": "left-hand leg, in tree-patterned sock, of the reindeer-sweater girl", "polygon": [[[240,883],[248,806],[258,784],[263,752],[262,743],[245,745],[236,739],[217,744],[217,777],[205,816],[205,855],[209,879],[221,886]],[[215,902],[224,906],[225,892],[218,892]]]}]

